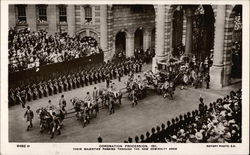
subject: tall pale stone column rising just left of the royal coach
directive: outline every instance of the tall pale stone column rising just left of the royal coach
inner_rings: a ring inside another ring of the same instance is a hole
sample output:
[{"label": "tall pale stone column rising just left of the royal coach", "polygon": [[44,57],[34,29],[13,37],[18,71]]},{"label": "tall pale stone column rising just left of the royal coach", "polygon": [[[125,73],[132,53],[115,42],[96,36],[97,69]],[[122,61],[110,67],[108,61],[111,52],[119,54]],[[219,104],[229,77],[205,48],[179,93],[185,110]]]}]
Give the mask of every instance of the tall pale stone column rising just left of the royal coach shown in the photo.
[{"label": "tall pale stone column rising just left of the royal coach", "polygon": [[152,71],[155,72],[155,67],[160,59],[164,58],[164,34],[165,34],[165,5],[157,6],[156,13],[156,38],[155,38],[155,54],[152,61]]}]

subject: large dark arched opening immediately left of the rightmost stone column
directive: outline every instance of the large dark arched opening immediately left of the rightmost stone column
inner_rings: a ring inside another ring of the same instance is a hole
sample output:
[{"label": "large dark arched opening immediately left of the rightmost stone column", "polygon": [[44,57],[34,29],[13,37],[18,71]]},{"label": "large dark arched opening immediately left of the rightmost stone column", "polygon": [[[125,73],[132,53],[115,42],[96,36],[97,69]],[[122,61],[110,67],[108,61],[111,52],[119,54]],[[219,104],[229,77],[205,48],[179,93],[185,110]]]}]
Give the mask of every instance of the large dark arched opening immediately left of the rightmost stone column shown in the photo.
[{"label": "large dark arched opening immediately left of the rightmost stone column", "polygon": [[209,57],[214,47],[214,12],[211,5],[199,5],[193,18],[193,54],[198,60]]}]

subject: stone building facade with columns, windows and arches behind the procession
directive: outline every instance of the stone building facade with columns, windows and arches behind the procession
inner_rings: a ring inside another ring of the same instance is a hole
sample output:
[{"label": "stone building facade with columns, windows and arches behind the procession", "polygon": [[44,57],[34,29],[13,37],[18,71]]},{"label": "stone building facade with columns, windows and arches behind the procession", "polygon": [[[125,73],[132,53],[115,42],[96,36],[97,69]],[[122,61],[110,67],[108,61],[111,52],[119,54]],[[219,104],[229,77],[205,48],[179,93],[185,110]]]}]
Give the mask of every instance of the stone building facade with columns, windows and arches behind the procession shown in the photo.
[{"label": "stone building facade with columns, windows and arches behind the procession", "polygon": [[[230,84],[237,7],[240,6],[9,5],[9,27],[45,29],[51,35],[67,32],[70,36],[91,36],[103,49],[106,60],[111,59],[118,48],[125,50],[128,57],[133,56],[135,48],[154,48],[153,69],[159,61],[172,56],[176,44],[185,46],[186,55],[194,54],[195,42],[200,41],[194,34],[202,30],[206,37],[202,36],[204,45],[198,49],[202,55],[213,51],[211,86],[221,88]],[[203,21],[209,21],[200,29],[194,26],[199,16],[197,10]],[[123,42],[119,42],[121,38]],[[124,45],[118,47],[120,44]]]}]

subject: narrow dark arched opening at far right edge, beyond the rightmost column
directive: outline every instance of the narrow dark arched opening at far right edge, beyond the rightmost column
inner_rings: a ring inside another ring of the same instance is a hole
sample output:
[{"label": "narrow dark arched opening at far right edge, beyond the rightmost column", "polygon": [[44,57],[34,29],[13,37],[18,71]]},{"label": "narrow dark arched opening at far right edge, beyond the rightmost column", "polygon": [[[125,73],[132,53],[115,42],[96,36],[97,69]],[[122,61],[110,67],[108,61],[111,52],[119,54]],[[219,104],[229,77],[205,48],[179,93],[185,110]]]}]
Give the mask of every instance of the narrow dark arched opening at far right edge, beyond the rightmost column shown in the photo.
[{"label": "narrow dark arched opening at far right edge, beyond the rightmost column", "polygon": [[236,5],[230,18],[233,19],[232,53],[231,53],[231,83],[242,77],[242,6]]}]

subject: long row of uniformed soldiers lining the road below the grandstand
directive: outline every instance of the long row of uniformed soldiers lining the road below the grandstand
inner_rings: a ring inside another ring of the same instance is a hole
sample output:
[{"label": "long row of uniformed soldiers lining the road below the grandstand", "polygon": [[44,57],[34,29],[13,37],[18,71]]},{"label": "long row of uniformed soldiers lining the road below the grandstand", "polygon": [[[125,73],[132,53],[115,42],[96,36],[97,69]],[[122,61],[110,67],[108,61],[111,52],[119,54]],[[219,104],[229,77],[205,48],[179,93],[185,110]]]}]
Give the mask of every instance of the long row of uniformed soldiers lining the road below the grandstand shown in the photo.
[{"label": "long row of uniformed soldiers lining the road below the grandstand", "polygon": [[23,108],[27,101],[70,91],[72,89],[110,81],[121,80],[121,77],[129,74],[130,70],[141,72],[142,63],[138,60],[125,60],[123,62],[107,62],[101,66],[92,67],[89,70],[61,75],[48,81],[29,84],[24,87],[9,89],[9,105],[21,104]]}]

